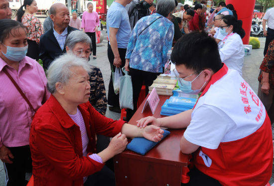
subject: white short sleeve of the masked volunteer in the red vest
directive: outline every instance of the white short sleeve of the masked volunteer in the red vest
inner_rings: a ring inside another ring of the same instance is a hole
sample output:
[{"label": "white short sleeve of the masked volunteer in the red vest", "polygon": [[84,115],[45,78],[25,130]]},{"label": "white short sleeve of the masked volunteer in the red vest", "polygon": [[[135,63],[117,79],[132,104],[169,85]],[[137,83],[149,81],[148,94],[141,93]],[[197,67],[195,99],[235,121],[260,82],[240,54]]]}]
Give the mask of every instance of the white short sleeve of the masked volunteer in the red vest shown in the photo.
[{"label": "white short sleeve of the masked volunteer in the red vest", "polygon": [[208,149],[217,149],[235,123],[220,109],[202,105],[192,113],[184,137],[190,143]]}]

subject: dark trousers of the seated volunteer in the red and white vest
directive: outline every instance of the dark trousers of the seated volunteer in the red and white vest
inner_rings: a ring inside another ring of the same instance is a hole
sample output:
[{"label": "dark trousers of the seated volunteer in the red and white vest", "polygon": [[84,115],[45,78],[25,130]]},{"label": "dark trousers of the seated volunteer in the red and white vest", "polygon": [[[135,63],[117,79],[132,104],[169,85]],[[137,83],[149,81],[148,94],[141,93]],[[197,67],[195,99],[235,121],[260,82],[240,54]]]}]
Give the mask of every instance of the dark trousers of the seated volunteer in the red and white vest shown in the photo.
[{"label": "dark trousers of the seated volunteer in the red and white vest", "polygon": [[181,186],[222,186],[217,180],[205,175],[195,167],[190,170],[188,175],[189,183],[181,184]]}]

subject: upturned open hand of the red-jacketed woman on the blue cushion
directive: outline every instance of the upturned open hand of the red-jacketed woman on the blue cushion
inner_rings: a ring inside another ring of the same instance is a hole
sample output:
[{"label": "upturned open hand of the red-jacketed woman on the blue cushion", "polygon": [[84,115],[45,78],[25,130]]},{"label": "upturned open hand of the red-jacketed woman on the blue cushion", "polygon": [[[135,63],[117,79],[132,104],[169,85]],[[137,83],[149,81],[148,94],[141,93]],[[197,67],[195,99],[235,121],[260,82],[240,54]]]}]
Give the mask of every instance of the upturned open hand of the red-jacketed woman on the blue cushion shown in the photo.
[{"label": "upturned open hand of the red-jacketed woman on the blue cushion", "polygon": [[147,140],[159,142],[163,138],[164,131],[155,125],[149,125],[142,130],[142,136]]}]

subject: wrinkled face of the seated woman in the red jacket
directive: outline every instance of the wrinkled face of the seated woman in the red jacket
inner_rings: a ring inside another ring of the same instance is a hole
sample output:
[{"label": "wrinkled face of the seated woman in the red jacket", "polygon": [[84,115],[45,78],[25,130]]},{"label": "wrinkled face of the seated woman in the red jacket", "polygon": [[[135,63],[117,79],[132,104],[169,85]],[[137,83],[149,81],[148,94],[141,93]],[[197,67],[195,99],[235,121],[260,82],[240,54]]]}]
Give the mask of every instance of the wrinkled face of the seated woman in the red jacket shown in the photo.
[{"label": "wrinkled face of the seated woman in the red jacket", "polygon": [[62,84],[62,92],[64,100],[69,104],[82,104],[89,101],[90,82],[89,74],[83,67],[71,67],[72,76],[68,82]]}]

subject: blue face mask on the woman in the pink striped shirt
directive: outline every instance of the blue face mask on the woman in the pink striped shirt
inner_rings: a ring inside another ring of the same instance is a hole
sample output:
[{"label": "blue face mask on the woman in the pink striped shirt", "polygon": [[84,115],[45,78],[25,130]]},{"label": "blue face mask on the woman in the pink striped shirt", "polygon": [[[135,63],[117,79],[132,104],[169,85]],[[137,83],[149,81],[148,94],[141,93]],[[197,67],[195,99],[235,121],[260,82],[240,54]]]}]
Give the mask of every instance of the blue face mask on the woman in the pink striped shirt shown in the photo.
[{"label": "blue face mask on the woman in the pink striped shirt", "polygon": [[26,56],[28,45],[24,47],[4,46],[6,47],[6,53],[2,51],[2,54],[11,61],[20,61]]}]

